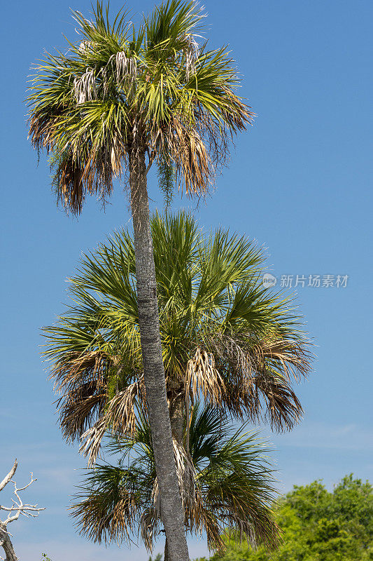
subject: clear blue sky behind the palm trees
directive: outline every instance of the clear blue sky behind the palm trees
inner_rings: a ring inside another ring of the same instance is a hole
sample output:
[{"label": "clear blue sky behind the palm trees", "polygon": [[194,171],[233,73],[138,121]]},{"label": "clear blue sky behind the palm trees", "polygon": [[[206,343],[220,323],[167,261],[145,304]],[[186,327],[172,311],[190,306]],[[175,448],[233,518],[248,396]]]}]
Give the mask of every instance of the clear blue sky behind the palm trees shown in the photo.
[{"label": "clear blue sky behind the palm trees", "polygon": [[[142,549],[105,551],[76,536],[65,507],[83,462],[62,442],[38,354],[40,327],[62,311],[80,252],[129,222],[119,186],[106,213],[94,200],[79,220],[57,211],[45,157],[36,167],[27,142],[29,67],[43,48],[64,46],[62,33],[75,36],[69,6],[90,10],[88,0],[20,0],[1,13],[0,478],[17,456],[18,480],[29,471],[38,477],[29,500],[48,508],[13,524],[24,560],[44,551],[52,561],[144,560]],[[153,1],[127,6],[148,12]],[[209,39],[232,47],[242,95],[258,117],[199,205],[200,224],[256,238],[279,279],[349,276],[346,288],[297,290],[318,361],[299,388],[302,424],[286,435],[265,431],[279,486],[316,478],[331,486],[351,471],[372,480],[372,1],[208,0],[206,11]],[[153,208],[162,205],[154,177],[150,196]],[[185,198],[174,206],[183,205]],[[205,551],[191,542],[192,556]]]}]

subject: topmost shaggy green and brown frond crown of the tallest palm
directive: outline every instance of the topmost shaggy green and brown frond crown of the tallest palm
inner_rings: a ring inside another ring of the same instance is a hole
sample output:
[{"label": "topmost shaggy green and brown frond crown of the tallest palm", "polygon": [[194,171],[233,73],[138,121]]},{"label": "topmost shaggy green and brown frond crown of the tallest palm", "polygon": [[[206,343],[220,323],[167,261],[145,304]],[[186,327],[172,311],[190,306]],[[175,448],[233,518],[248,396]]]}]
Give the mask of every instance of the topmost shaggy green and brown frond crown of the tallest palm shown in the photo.
[{"label": "topmost shaggy green and brown frond crown of the tallest palm", "polygon": [[234,93],[227,49],[198,45],[203,16],[194,1],[167,0],[136,32],[125,11],[111,24],[100,2],[92,21],[73,12],[81,40],[41,60],[28,98],[31,141],[52,154],[66,208],[111,194],[135,148],[149,165],[173,165],[187,192],[206,191],[228,136],[253,114]]}]

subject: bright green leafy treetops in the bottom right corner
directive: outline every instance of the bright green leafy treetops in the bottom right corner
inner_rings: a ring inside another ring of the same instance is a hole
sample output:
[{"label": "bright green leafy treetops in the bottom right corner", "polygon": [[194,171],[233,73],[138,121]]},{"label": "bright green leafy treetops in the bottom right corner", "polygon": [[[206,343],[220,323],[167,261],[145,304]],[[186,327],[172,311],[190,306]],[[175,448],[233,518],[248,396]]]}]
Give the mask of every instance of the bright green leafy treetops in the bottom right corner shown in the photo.
[{"label": "bright green leafy treetops in the bottom right corner", "polygon": [[253,551],[247,543],[227,539],[225,553],[216,553],[210,561],[373,560],[373,492],[369,482],[346,475],[332,492],[321,481],[294,486],[275,510],[283,531],[279,550]]}]

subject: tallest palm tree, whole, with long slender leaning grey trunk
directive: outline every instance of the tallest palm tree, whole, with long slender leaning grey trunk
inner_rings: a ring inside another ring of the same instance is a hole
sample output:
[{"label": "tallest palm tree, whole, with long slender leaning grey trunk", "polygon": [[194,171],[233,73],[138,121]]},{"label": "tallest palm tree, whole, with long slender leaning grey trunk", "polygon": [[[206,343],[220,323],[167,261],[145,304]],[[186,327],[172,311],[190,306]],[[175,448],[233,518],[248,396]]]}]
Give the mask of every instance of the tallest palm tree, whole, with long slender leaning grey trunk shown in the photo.
[{"label": "tallest palm tree, whole, with long slender leaning grey trunk", "polygon": [[[225,163],[227,141],[246,128],[226,48],[199,48],[203,14],[194,1],[167,0],[136,31],[98,3],[91,21],[73,12],[80,43],[45,55],[29,95],[29,135],[51,154],[57,196],[79,213],[87,194],[105,199],[127,174],[134,227],[141,351],[155,465],[171,561],[188,561],[181,536],[157,314],[146,177],[153,161],[174,166],[176,182],[203,194]],[[146,162],[148,158],[148,163]]]}]

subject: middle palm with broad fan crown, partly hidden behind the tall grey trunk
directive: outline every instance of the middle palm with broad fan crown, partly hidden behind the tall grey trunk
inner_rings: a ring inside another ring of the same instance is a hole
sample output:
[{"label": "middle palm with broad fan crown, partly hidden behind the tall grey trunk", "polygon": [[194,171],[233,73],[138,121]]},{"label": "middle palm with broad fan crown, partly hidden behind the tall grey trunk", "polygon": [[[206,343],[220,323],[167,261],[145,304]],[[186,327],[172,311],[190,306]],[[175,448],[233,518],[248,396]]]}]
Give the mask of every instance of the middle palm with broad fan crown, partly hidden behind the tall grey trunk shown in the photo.
[{"label": "middle palm with broad fan crown, partly hidden behind the tall grey trunk", "polygon": [[[205,236],[184,212],[153,215],[151,231],[176,441],[198,398],[240,421],[292,428],[302,414],[292,380],[308,374],[311,355],[293,304],[262,285],[262,250],[221,229]],[[44,330],[62,432],[83,440],[89,465],[106,433],[134,434],[146,401],[135,262],[127,230],[85,256],[71,305]]]}]

